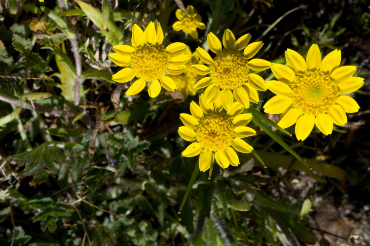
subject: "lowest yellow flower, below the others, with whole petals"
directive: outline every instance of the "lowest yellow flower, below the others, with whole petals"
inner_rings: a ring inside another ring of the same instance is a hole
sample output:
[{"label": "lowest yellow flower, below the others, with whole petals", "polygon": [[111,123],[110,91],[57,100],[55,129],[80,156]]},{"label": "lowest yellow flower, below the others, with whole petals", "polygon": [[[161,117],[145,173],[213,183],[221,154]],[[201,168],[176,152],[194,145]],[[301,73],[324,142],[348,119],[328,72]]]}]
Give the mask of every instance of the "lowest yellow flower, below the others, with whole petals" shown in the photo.
[{"label": "lowest yellow flower, below the others, with whole petals", "polygon": [[252,114],[241,114],[243,106],[234,102],[227,113],[222,113],[222,103],[205,103],[204,94],[199,96],[198,106],[190,103],[189,114],[180,114],[185,126],[180,126],[178,133],[191,143],[183,155],[192,157],[199,154],[199,169],[205,172],[215,158],[222,168],[239,165],[237,150],[250,153],[253,147],[242,138],[256,135],[256,131],[246,125],[252,120]]}]

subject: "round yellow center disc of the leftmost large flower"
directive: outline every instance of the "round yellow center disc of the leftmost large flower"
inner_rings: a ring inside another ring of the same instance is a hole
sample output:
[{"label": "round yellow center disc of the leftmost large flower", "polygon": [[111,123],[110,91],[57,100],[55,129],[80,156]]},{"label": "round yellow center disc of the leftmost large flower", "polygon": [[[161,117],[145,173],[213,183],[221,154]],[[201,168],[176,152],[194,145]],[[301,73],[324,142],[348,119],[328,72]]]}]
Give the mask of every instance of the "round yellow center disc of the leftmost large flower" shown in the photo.
[{"label": "round yellow center disc of the leftmost large flower", "polygon": [[168,56],[161,45],[144,44],[131,57],[131,68],[135,76],[145,81],[159,79],[166,74]]}]

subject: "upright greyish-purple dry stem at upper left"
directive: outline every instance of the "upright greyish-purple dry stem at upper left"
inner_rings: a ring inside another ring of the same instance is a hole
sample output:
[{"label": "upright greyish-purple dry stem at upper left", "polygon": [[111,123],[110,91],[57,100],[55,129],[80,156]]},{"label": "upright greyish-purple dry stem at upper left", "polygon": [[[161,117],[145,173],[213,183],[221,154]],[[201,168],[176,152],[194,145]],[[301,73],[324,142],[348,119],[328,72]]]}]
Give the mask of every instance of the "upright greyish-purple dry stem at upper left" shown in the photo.
[{"label": "upright greyish-purple dry stem at upper left", "polygon": [[[58,5],[62,11],[68,10],[68,5],[64,3],[63,0],[57,0]],[[73,31],[73,25],[71,22],[71,18],[68,16],[65,16],[64,19],[67,23],[67,28],[71,31]],[[74,80],[74,106],[78,106],[80,103],[80,90],[81,90],[81,74],[82,74],[82,63],[81,63],[81,57],[78,52],[78,42],[77,38],[74,35],[74,38],[70,38],[72,49],[73,49],[73,55],[74,55],[74,62],[76,66],[76,74],[77,78]]]}]

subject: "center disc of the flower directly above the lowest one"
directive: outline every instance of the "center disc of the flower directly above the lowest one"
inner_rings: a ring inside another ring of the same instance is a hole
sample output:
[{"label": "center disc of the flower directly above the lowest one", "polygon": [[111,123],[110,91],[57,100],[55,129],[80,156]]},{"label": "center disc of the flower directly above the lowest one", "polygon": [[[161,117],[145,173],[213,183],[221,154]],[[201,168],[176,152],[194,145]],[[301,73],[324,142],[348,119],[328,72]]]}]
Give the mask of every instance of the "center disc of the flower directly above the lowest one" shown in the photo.
[{"label": "center disc of the flower directly above the lowest one", "polygon": [[210,66],[212,83],[231,91],[245,84],[249,75],[247,62],[240,51],[222,50]]}]

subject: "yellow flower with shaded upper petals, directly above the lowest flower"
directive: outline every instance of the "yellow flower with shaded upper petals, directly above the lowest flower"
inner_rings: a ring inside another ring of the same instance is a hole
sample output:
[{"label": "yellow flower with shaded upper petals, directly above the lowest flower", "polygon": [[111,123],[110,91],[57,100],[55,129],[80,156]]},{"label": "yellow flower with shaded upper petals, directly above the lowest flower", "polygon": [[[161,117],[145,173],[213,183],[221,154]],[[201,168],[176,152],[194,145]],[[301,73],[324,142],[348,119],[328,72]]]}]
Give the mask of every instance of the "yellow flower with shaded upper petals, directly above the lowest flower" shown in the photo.
[{"label": "yellow flower with shaded upper petals, directly above the lowest flower", "polygon": [[226,110],[232,105],[233,97],[245,108],[249,108],[249,101],[259,102],[257,90],[266,91],[267,87],[265,81],[251,73],[251,70],[265,70],[271,66],[271,62],[262,59],[249,61],[263,45],[262,42],[254,42],[247,46],[251,37],[248,33],[236,40],[232,31],[226,29],[222,37],[225,49],[222,49],[220,40],[210,32],[207,42],[210,50],[216,53],[214,59],[204,49],[197,48],[199,58],[209,66],[193,65],[192,68],[201,75],[210,75],[199,80],[194,88],[207,87],[204,92],[206,103],[214,102],[219,94]]}]

